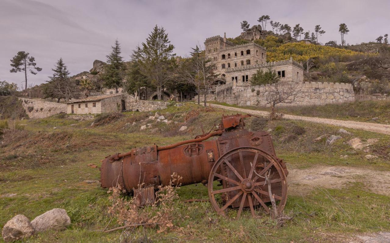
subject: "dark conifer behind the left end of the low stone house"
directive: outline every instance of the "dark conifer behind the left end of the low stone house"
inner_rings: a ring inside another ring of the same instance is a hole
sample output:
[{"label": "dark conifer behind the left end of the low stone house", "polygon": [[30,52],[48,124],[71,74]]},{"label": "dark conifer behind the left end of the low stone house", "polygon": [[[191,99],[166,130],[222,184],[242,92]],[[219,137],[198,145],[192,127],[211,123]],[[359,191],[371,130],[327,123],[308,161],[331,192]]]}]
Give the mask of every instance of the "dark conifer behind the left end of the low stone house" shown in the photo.
[{"label": "dark conifer behind the left end of the low stone house", "polygon": [[78,90],[76,83],[69,78],[68,67],[64,64],[62,58],[60,58],[55,65],[53,76],[50,77],[50,81],[43,87],[43,92],[46,97],[57,98],[57,102],[60,99],[65,99],[66,102],[72,98],[78,98]]}]

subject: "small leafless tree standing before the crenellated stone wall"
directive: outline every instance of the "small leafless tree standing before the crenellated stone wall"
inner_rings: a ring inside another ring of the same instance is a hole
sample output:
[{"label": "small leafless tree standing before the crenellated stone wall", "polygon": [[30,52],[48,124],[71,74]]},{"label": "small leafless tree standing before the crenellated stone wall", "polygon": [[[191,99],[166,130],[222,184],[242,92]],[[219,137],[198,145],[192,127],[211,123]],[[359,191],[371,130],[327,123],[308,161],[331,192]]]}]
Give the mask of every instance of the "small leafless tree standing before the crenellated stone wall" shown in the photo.
[{"label": "small leafless tree standing before the crenellated stone wall", "polygon": [[300,92],[301,85],[300,83],[296,82],[277,82],[270,85],[265,85],[260,93],[264,97],[266,104],[271,106],[271,113],[269,114],[269,118],[278,118],[275,106],[280,103],[293,103]]}]

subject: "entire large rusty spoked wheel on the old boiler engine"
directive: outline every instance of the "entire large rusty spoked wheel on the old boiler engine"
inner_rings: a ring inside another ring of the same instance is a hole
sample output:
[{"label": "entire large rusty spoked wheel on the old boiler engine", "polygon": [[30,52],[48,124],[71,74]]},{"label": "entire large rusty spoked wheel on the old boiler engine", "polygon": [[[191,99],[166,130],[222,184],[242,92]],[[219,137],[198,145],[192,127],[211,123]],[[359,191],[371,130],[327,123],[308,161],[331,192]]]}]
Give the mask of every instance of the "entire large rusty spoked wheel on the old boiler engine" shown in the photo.
[{"label": "entire large rusty spoked wheel on the old boiler engine", "polygon": [[[222,189],[215,188],[214,181],[219,181]],[[278,213],[284,209],[287,180],[273,156],[253,147],[240,147],[225,153],[213,165],[208,191],[210,202],[219,214],[239,218],[243,209],[249,208],[255,217],[261,211],[256,209],[270,213],[272,204],[266,203],[272,200]],[[238,212],[227,213],[229,208],[238,208]]]}]

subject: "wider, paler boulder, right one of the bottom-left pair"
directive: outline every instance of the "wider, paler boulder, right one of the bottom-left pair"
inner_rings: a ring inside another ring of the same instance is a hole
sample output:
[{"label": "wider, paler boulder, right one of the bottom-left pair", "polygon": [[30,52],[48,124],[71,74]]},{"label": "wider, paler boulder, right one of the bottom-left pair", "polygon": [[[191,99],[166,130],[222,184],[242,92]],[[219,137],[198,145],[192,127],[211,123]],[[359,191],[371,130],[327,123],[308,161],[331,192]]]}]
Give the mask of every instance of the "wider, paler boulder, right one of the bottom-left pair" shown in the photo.
[{"label": "wider, paler boulder, right one of the bottom-left pair", "polygon": [[65,209],[54,208],[41,214],[31,221],[32,227],[36,232],[46,231],[48,229],[62,230],[71,224]]}]

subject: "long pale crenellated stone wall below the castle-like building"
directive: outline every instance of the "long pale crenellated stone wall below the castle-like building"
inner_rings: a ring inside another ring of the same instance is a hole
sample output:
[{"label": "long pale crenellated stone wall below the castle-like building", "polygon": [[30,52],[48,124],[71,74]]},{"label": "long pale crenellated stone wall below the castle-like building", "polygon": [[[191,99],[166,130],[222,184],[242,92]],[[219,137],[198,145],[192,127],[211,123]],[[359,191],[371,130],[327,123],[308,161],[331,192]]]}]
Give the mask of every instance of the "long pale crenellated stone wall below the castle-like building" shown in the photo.
[{"label": "long pale crenellated stone wall below the castle-like building", "polygon": [[[286,84],[287,85],[287,84]],[[342,103],[355,100],[353,87],[349,83],[297,83],[299,94],[291,104],[280,103],[278,106],[289,105],[324,105],[327,103]],[[269,89],[269,85],[236,86],[231,84],[216,87],[214,99],[219,102],[241,106],[267,106],[262,94]]]}]

